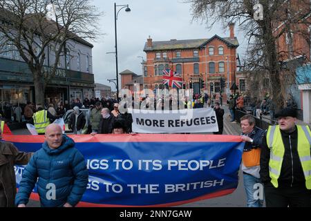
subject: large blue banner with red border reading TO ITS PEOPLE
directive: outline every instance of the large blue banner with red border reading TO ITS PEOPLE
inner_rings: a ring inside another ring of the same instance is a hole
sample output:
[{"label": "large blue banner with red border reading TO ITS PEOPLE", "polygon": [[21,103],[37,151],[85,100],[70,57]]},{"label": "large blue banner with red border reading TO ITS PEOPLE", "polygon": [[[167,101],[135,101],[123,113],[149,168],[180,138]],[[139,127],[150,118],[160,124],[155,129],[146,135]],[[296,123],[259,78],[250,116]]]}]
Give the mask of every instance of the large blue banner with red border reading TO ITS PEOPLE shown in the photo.
[{"label": "large blue banner with red border reading TO ITS PEOPLE", "polygon": [[[176,206],[232,193],[244,143],[232,135],[69,135],[84,155],[88,186],[78,206]],[[3,135],[37,151],[42,135]],[[16,166],[17,187],[23,167]],[[38,199],[36,188],[32,199]]]}]

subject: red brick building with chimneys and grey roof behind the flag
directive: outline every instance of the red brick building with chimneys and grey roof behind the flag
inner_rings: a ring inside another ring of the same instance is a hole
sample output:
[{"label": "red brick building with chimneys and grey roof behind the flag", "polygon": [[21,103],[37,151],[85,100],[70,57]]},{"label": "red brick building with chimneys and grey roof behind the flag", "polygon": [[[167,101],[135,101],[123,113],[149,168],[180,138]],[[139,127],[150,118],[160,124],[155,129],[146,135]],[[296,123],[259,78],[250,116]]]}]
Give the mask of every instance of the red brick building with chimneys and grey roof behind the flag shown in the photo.
[{"label": "red brick building with chimneys and grey roof behind the flag", "polygon": [[[220,92],[220,77],[229,77],[229,87],[236,73],[236,48],[238,39],[234,36],[234,23],[229,25],[229,37],[214,35],[210,39],[153,41],[149,37],[144,46],[147,61],[144,64],[144,88],[163,88],[162,70],[173,68],[182,75],[186,88],[193,83],[194,93]],[[199,79],[205,81],[205,88],[199,87]],[[214,86],[210,87],[210,83]],[[212,89],[212,90],[211,90]]]}]

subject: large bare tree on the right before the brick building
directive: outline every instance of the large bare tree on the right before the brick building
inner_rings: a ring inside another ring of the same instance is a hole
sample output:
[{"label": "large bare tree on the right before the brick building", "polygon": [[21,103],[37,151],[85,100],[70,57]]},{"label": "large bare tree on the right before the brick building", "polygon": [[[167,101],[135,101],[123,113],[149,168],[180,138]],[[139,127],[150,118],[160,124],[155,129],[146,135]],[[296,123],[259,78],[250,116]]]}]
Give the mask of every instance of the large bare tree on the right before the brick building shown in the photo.
[{"label": "large bare tree on the right before the brick building", "polygon": [[[307,0],[189,0],[194,19],[206,21],[211,28],[216,22],[238,23],[248,38],[245,68],[256,73],[268,73],[270,95],[276,106],[281,108],[286,85],[283,80],[289,72],[283,72],[280,61],[303,55],[309,59],[303,48],[294,48],[293,33],[305,35],[310,44],[310,1]],[[255,19],[254,5],[263,6],[263,19]],[[280,48],[281,38],[286,37],[287,48]],[[309,47],[310,48],[310,47]],[[310,53],[310,50],[309,50]],[[294,75],[294,69],[290,72]]]}]

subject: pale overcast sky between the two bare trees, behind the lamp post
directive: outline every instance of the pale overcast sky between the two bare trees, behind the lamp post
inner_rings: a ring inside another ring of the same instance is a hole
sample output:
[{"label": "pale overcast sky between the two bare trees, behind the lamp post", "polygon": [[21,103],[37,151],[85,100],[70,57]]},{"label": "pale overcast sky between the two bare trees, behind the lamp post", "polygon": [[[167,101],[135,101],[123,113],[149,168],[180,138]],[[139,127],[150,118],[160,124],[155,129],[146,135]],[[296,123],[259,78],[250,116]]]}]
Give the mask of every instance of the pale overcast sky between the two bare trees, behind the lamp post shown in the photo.
[{"label": "pale overcast sky between the two bare trees, behind the lamp post", "polygon": [[[115,55],[106,52],[115,51],[114,3],[129,4],[131,8],[129,13],[125,12],[125,8],[122,9],[117,17],[119,73],[129,69],[133,73],[142,75],[140,64],[142,58],[138,56],[146,59],[143,48],[149,35],[153,41],[204,39],[214,35],[229,37],[228,28],[223,30],[219,25],[207,30],[205,23],[191,22],[191,6],[189,3],[182,3],[182,0],[93,0],[93,5],[104,12],[100,27],[101,32],[105,34],[97,42],[92,42],[95,83],[109,85],[112,90],[115,90],[115,86],[109,84],[107,79],[115,79]],[[235,33],[240,43],[238,53],[241,57],[246,41],[238,26]]]}]

